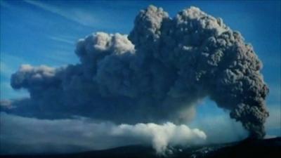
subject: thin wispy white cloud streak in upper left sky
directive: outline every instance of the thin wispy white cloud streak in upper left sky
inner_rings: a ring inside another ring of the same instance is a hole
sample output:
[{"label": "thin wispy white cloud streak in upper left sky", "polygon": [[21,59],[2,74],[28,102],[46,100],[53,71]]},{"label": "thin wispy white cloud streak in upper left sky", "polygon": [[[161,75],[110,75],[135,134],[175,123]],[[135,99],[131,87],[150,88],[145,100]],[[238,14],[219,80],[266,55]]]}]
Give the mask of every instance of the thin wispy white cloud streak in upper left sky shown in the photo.
[{"label": "thin wispy white cloud streak in upper left sky", "polygon": [[42,1],[25,0],[25,2],[33,6],[42,8],[45,11],[50,11],[51,13],[63,16],[68,20],[78,22],[81,25],[93,27],[98,22],[97,18],[93,15],[93,13],[90,13],[89,11],[84,11],[81,8],[63,8],[44,3]]}]

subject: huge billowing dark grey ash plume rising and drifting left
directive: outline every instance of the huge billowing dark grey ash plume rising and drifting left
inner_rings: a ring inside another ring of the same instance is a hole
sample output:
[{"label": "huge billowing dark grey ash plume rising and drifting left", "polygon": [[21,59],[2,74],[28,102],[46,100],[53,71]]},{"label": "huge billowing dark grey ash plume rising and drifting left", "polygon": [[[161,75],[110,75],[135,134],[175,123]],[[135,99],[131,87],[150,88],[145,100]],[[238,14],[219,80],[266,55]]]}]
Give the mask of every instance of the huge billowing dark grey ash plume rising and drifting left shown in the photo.
[{"label": "huge billowing dark grey ash plume rising and drifting left", "polygon": [[[190,7],[169,18],[149,6],[127,37],[97,32],[77,43],[81,63],[62,68],[22,65],[11,78],[30,98],[14,113],[75,115],[117,123],[186,121],[207,96],[230,110],[252,138],[263,138],[268,88],[261,61],[239,32]],[[28,109],[28,110],[27,110]]]}]

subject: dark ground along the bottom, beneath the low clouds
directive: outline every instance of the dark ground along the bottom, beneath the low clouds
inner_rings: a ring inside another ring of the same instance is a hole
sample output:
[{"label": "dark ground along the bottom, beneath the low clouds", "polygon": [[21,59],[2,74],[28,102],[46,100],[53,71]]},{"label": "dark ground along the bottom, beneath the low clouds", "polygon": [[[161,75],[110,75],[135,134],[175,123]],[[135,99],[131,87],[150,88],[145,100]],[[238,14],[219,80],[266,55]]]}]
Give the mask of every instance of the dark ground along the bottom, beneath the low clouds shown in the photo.
[{"label": "dark ground along the bottom, beneath the low clouds", "polygon": [[[20,158],[152,158],[164,157],[155,154],[152,147],[141,145],[131,145],[117,147],[110,150],[96,150],[91,152],[79,152],[74,154],[36,154],[36,155],[1,155],[0,157],[20,157]],[[271,138],[266,140],[243,140],[237,143],[226,143],[216,145],[204,145],[197,147],[179,148],[166,152],[165,157],[190,157],[190,158],[232,158],[232,157],[263,157],[279,158],[281,157],[281,138]]]}]

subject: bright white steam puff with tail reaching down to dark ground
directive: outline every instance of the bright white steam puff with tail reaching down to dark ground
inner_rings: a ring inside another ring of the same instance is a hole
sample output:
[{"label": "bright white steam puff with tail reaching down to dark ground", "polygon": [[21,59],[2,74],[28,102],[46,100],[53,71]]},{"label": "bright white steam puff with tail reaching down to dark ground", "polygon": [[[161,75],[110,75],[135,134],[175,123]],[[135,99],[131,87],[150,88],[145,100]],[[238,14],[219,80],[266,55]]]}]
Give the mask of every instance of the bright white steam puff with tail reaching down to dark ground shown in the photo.
[{"label": "bright white steam puff with tail reaching down to dark ground", "polygon": [[[168,145],[192,145],[202,143],[207,138],[199,129],[190,129],[186,125],[176,126],[171,122],[166,124],[122,124],[113,129],[115,136],[133,136],[150,140],[157,153],[163,154]],[[140,139],[141,140],[141,139]]]}]

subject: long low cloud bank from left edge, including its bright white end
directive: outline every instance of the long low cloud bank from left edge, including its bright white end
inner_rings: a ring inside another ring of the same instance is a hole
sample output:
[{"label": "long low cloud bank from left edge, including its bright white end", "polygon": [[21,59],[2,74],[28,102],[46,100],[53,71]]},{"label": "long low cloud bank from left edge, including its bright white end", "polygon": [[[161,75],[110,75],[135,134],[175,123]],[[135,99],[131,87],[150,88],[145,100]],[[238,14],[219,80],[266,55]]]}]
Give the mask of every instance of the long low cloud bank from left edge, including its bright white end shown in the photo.
[{"label": "long low cloud bank from left edge, including its bright white end", "polygon": [[0,132],[1,154],[81,152],[133,144],[152,145],[158,154],[165,154],[168,146],[206,140],[204,132],[170,122],[116,125],[85,118],[45,120],[3,112]]}]

